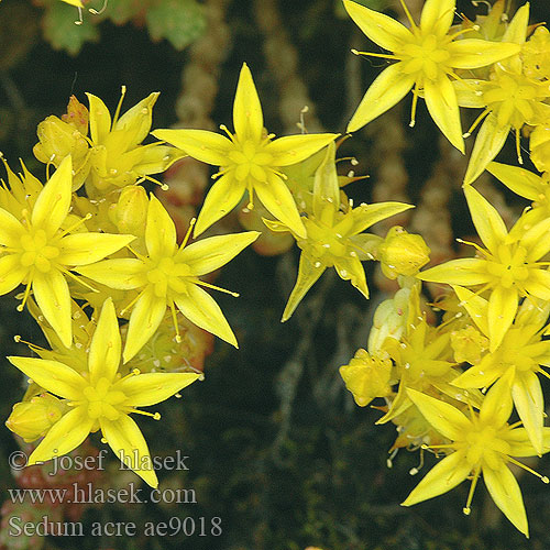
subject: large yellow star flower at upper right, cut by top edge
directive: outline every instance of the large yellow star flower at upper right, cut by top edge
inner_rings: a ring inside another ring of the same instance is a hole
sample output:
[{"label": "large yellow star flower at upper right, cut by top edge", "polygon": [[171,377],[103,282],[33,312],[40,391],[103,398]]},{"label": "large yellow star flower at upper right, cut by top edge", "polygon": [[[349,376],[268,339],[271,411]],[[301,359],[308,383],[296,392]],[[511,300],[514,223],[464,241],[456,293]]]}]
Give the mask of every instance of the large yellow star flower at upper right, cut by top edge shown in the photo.
[{"label": "large yellow star flower at upper right, cut by top edge", "polygon": [[397,63],[374,80],[353,114],[348,131],[354,132],[399,102],[411,89],[413,117],[420,94],[431,118],[446,138],[462,153],[459,103],[451,84],[459,78],[454,69],[473,69],[491,65],[517,54],[519,45],[488,42],[477,38],[455,40],[470,30],[449,34],[454,18],[455,0],[427,0],[417,25],[405,2],[402,4],[410,22],[410,30],[383,13],[370,10],[351,0],[343,0],[351,19],[376,44],[393,52],[365,55],[395,59]]}]

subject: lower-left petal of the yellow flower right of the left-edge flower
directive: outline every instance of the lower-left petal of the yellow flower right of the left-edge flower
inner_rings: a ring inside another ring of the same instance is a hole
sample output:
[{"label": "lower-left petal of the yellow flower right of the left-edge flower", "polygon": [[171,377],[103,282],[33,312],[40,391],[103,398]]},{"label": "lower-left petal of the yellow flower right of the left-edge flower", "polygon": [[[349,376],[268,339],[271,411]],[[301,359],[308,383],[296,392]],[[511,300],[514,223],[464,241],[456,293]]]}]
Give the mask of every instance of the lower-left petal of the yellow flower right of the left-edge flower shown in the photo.
[{"label": "lower-left petal of the yellow flower right of the left-edge flower", "polygon": [[166,298],[158,298],[146,289],[135,302],[128,324],[124,363],[128,363],[155,333],[166,312]]}]

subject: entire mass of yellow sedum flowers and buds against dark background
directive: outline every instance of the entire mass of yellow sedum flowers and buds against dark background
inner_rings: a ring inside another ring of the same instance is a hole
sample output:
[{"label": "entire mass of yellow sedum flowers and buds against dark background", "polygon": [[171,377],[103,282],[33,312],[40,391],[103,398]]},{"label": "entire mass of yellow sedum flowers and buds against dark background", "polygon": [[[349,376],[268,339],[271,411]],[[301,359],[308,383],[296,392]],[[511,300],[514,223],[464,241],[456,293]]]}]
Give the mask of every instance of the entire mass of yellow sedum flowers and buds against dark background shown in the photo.
[{"label": "entire mass of yellow sedum flowers and buds against dark background", "polygon": [[[366,90],[348,132],[409,91],[410,125],[422,98],[461,153],[480,127],[463,180],[477,237],[459,242],[469,245],[470,256],[425,268],[430,249],[402,227],[413,205],[354,206],[344,186],[360,178],[337,172],[338,133],[309,134],[304,125],[297,135],[268,133],[245,63],[233,129],[220,127],[226,135],[197,128],[151,132],[156,92],[121,114],[123,88],[113,116],[91,94],[89,109],[73,97],[66,114],[38,124],[34,154],[46,165],[44,183],[24,165],[19,176],[7,165],[0,188],[0,294],[24,288],[18,309],[29,308],[52,348],[30,343],[40,359],[9,358],[30,385],[7,426],[28,442],[43,438],[31,464],[70,452],[101,431],[121,461],[136,452],[140,464],[130,461],[131,468],[156,486],[147,444],[131,415],[161,420],[141,407],[202,378],[188,359],[207,348],[205,333],[237,348],[231,319],[210,290],[238,294],[216,286],[212,274],[261,231],[274,240],[285,233],[282,249],[296,242],[299,262],[282,321],[332,267],[359,290],[358,300],[370,296],[366,261],[378,262],[394,285],[395,294],[376,307],[364,346],[339,372],[360,407],[382,399],[376,424],[397,427],[393,451],[428,451],[437,459],[403,495],[403,505],[470,479],[463,508],[469,515],[483,479],[496,506],[527,537],[509,466],[549,481],[517,458],[550,451],[541,385],[541,377],[550,377],[550,33],[529,25],[529,4],[503,16],[504,0],[475,21],[455,18],[454,0],[427,0],[419,22],[402,0],[408,26],[352,0],[343,6],[389,52],[364,55],[391,62]],[[461,108],[482,110],[466,133]],[[150,132],[161,141],[144,144]],[[510,132],[518,162],[525,138],[540,174],[494,162]],[[163,206],[166,186],[155,195],[141,184],[160,183],[153,176],[186,156],[218,170],[182,239]],[[473,186],[485,169],[531,202],[510,227]],[[227,231],[228,219],[237,223],[251,211],[258,212],[261,231]],[[386,227],[384,237],[366,232],[392,217],[400,224]],[[436,289],[442,295],[428,304],[425,295]],[[182,350],[187,364],[175,365]],[[163,355],[167,366],[157,370]],[[510,420],[516,414],[519,420]]]}]

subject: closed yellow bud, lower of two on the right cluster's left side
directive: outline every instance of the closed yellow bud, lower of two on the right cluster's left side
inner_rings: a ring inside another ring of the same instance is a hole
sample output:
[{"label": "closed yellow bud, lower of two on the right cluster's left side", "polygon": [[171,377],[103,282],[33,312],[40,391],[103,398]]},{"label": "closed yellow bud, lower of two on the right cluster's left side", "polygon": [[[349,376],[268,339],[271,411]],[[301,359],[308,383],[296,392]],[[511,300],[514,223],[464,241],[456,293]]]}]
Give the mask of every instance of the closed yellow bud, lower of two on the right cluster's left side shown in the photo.
[{"label": "closed yellow bud, lower of two on the right cluster's left side", "polygon": [[365,407],[375,397],[386,397],[392,393],[392,362],[370,355],[363,349],[355,352],[350,364],[340,367],[340,376],[360,407]]}]

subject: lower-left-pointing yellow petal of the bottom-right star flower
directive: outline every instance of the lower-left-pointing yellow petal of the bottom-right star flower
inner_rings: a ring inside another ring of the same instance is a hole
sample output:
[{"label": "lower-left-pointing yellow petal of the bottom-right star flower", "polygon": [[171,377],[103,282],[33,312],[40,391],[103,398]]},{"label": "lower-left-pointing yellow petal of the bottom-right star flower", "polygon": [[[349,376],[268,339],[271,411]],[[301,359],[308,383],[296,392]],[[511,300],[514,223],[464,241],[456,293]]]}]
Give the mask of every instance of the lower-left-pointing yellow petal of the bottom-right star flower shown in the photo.
[{"label": "lower-left-pointing yellow petal of the bottom-right star flower", "polygon": [[465,460],[464,451],[457,451],[438,462],[411,491],[402,506],[428,501],[442,495],[462,483],[471,472],[471,466]]}]

